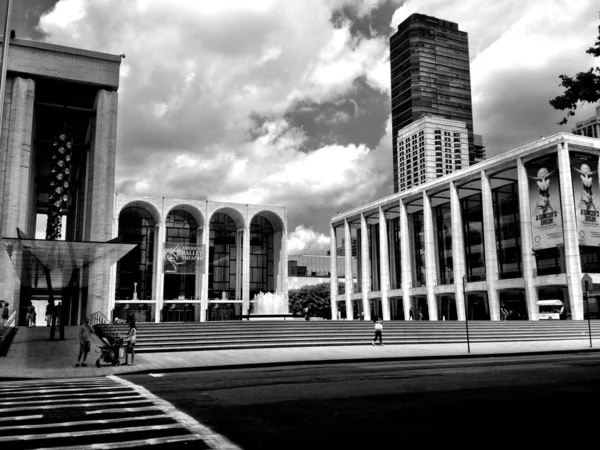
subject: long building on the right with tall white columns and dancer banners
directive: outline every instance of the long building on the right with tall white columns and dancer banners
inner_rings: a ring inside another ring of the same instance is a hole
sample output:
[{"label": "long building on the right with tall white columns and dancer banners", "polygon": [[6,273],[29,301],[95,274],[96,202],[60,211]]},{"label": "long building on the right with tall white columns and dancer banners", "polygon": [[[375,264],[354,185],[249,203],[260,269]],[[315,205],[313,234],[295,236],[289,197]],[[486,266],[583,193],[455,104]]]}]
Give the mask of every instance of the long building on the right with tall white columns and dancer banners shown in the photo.
[{"label": "long building on the right with tall white columns and dancer banners", "polygon": [[345,258],[341,293],[331,260],[332,317],[500,320],[505,306],[538,320],[539,300],[560,300],[583,319],[582,275],[600,284],[599,157],[600,140],[560,133],[333,216],[331,251],[356,234],[359,264]]}]

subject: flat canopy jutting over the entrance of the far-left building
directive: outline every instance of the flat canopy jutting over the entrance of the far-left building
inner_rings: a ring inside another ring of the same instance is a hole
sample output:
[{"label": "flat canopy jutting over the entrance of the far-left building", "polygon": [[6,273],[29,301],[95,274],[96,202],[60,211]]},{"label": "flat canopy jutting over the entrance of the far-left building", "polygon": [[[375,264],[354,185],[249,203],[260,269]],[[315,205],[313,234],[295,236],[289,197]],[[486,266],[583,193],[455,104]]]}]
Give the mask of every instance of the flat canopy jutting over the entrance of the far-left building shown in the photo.
[{"label": "flat canopy jutting over the entrance of the far-left building", "polygon": [[114,241],[68,242],[6,237],[2,238],[2,243],[21,286],[51,289],[69,286],[78,269],[108,271],[136,246]]}]

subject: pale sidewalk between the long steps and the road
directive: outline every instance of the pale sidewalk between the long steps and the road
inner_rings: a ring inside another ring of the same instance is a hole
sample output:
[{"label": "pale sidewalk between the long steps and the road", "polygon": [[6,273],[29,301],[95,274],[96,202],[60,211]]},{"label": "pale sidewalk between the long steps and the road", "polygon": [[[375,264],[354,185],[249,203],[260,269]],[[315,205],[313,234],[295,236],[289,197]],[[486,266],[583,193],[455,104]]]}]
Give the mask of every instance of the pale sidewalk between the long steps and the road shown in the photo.
[{"label": "pale sidewalk between the long steps and the road", "polygon": [[[0,357],[0,381],[3,378],[76,378],[127,373],[162,373],[232,367],[260,367],[279,364],[315,362],[357,362],[382,360],[419,360],[464,357],[487,357],[518,354],[600,351],[600,336],[565,341],[388,345],[340,347],[289,347],[274,349],[218,350],[135,355],[133,366],[96,368],[100,341],[93,336],[88,367],[75,367],[79,353],[77,327],[65,328],[64,341],[49,341],[46,327],[19,328],[6,357]],[[58,336],[58,330],[56,335]],[[385,338],[385,337],[384,337]]]}]

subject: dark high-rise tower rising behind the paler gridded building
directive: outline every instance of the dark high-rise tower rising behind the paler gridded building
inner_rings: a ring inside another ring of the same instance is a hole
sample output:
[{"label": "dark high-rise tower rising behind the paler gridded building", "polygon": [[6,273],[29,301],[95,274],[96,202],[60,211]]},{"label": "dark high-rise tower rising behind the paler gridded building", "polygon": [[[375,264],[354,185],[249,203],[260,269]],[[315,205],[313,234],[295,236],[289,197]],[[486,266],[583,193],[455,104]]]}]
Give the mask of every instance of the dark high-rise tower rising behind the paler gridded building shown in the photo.
[{"label": "dark high-rise tower rising behind the paler gridded building", "polygon": [[473,139],[467,33],[454,22],[412,14],[390,38],[390,52],[394,192],[400,190],[398,132],[422,117],[464,122],[469,163],[484,159],[485,152],[481,147],[476,151]]}]

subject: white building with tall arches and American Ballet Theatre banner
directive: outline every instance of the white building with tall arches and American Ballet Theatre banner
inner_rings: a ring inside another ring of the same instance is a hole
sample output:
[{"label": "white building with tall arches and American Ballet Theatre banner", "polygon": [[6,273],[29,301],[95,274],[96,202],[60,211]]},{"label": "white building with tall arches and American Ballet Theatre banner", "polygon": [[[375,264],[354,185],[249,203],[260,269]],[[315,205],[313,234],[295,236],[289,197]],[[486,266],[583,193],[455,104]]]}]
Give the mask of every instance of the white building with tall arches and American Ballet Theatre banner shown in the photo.
[{"label": "white building with tall arches and American Ballet Theatre banner", "polygon": [[114,317],[232,320],[261,292],[287,307],[284,207],[118,194],[111,216],[112,237],[137,244],[111,271]]}]

